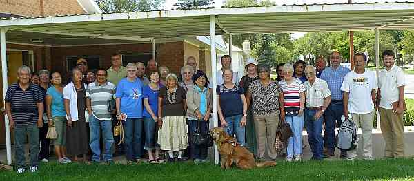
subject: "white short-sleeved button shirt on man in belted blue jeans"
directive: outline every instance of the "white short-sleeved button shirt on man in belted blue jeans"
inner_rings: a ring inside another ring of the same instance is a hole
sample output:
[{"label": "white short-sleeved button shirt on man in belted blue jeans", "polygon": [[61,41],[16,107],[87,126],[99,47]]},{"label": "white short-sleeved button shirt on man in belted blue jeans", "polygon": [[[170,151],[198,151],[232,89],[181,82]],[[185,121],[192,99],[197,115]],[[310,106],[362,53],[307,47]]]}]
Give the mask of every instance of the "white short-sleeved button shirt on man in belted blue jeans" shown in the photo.
[{"label": "white short-sleeved button shirt on man in belted blue jeans", "polygon": [[304,82],[306,88],[306,107],[321,107],[324,105],[324,100],[331,96],[328,83],[326,81],[315,77],[313,85],[309,81]]}]

